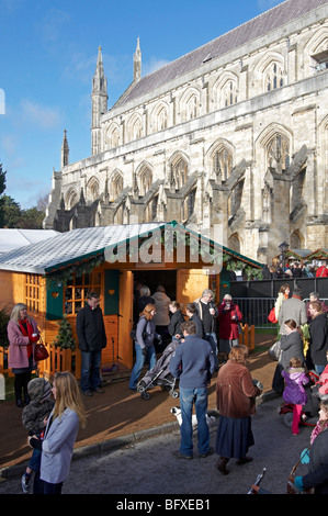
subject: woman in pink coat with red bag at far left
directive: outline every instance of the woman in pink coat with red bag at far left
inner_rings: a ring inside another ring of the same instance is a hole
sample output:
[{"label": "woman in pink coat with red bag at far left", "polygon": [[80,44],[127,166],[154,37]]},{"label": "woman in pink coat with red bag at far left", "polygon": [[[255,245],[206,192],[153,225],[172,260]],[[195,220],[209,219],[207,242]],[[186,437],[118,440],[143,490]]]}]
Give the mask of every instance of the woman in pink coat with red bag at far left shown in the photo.
[{"label": "woman in pink coat with red bag at far left", "polygon": [[27,383],[31,380],[31,372],[36,368],[34,360],[35,343],[39,339],[37,325],[32,317],[27,316],[27,306],[23,303],[14,305],[7,327],[9,339],[9,367],[14,373],[15,401],[19,407],[24,402],[30,402],[27,394]]}]

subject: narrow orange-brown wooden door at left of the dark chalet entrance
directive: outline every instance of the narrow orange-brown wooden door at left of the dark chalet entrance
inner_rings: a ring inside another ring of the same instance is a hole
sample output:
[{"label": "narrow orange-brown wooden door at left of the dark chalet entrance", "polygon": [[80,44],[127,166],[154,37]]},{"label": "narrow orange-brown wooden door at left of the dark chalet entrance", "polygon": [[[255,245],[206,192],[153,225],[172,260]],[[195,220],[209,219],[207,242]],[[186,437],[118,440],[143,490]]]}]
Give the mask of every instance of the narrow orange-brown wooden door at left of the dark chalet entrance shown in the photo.
[{"label": "narrow orange-brown wooden door at left of the dark chalet entrance", "polygon": [[117,355],[124,366],[133,367],[133,341],[129,333],[133,323],[133,272],[120,270],[118,300],[118,349]]}]

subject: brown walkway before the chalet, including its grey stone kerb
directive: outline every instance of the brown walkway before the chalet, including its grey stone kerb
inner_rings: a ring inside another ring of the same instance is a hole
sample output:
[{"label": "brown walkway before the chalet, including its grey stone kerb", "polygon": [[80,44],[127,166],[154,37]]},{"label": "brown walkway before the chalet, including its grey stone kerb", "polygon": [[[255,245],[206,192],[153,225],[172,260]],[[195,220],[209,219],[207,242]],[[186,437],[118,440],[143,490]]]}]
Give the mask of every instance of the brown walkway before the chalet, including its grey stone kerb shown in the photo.
[{"label": "brown walkway before the chalet, including its grey stone kerb", "polygon": [[[259,404],[275,397],[271,382],[276,362],[268,357],[268,348],[273,341],[273,335],[257,335],[256,351],[249,356],[252,378],[263,384]],[[106,380],[104,393],[83,399],[87,426],[79,430],[73,461],[126,449],[158,436],[165,438],[172,433],[179,436],[179,424],[170,412],[171,407],[179,406],[179,397],[172,399],[167,391],[156,386],[149,391],[150,399],[146,401],[128,389],[128,378],[103,378]],[[215,384],[216,374],[208,388],[208,411],[216,411]],[[21,416],[22,411],[13,402],[1,402],[0,479],[21,475],[31,457]]]}]

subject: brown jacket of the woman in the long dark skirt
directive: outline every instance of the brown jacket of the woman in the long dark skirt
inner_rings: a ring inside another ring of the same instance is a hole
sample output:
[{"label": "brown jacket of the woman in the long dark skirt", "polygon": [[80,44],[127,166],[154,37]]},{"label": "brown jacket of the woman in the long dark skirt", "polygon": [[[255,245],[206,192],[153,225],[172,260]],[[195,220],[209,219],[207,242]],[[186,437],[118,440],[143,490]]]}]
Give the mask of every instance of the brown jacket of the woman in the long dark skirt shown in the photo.
[{"label": "brown jacket of the woman in the long dark skirt", "polygon": [[228,360],[217,374],[217,410],[225,417],[248,417],[256,412],[260,390],[252,383],[246,366]]}]

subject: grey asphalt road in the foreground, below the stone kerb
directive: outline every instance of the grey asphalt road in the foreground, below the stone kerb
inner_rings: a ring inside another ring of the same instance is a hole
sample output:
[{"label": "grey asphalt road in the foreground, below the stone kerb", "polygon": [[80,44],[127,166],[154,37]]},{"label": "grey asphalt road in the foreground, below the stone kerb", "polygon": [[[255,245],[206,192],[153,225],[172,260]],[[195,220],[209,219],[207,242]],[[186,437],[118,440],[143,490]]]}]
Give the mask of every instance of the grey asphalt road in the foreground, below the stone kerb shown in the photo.
[{"label": "grey asphalt road in the foreground, below the stone kerb", "polygon": [[[115,495],[110,498],[112,505],[106,508],[113,508],[113,504],[117,508],[117,504],[124,503],[124,500],[165,503],[161,498],[158,502],[157,494],[167,500],[194,500],[199,494],[200,498],[211,501],[210,508],[213,509],[218,507],[215,495],[247,494],[257,475],[265,468],[261,487],[271,494],[285,494],[287,476],[301,451],[308,446],[312,428],[303,426],[299,435],[293,437],[291,428],[284,425],[283,416],[278,413],[280,404],[281,399],[272,399],[258,406],[252,417],[256,444],[249,450],[253,461],[237,465],[231,460],[227,476],[215,469],[216,455],[201,459],[195,451],[191,461],[173,457],[171,452],[179,448],[180,442],[179,428],[176,428],[170,434],[73,460],[63,492]],[[216,425],[211,427],[213,446],[215,436]],[[196,448],[196,434],[194,445]],[[302,465],[299,473],[305,472],[305,468]],[[20,479],[10,478],[0,483],[0,494],[3,493],[21,493]],[[136,498],[128,495],[142,496]]]}]

